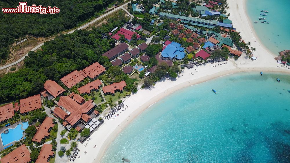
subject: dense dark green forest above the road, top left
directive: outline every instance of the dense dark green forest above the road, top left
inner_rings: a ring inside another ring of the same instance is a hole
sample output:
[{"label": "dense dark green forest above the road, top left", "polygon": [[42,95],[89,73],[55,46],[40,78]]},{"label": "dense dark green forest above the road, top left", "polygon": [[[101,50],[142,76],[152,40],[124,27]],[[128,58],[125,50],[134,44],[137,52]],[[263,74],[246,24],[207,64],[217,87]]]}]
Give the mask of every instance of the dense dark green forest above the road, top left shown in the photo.
[{"label": "dense dark green forest above the road, top left", "polygon": [[[9,46],[26,35],[51,36],[71,29],[106,8],[114,0],[27,0],[32,4],[56,6],[59,14],[3,14],[0,12],[0,61],[9,57]],[[0,1],[2,7],[16,7],[19,1]]]}]

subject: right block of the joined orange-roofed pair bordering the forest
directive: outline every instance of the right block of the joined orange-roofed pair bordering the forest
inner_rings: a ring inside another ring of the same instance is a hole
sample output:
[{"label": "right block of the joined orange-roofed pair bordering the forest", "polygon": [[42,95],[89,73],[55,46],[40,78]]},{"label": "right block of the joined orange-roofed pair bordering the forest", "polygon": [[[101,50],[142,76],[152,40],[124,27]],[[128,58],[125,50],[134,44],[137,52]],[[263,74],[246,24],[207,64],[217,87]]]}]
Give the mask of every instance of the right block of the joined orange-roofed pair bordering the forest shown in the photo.
[{"label": "right block of the joined orange-roofed pair bordering the forest", "polygon": [[102,65],[100,65],[98,62],[95,62],[95,63],[91,64],[90,66],[84,68],[83,72],[86,74],[86,76],[95,80],[99,76],[105,74],[106,69]]}]

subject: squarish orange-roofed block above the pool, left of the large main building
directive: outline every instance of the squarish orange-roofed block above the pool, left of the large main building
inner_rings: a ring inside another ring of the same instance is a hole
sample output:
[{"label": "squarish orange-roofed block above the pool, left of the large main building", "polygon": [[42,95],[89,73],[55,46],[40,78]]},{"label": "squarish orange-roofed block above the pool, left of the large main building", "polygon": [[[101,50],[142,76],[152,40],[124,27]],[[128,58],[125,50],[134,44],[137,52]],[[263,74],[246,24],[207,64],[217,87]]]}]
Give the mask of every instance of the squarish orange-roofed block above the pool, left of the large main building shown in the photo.
[{"label": "squarish orange-roofed block above the pool, left of the large main building", "polygon": [[35,96],[30,96],[25,99],[20,100],[20,113],[28,114],[29,111],[33,111],[41,108],[41,98],[40,94]]}]

